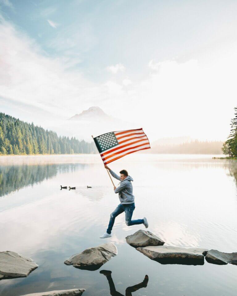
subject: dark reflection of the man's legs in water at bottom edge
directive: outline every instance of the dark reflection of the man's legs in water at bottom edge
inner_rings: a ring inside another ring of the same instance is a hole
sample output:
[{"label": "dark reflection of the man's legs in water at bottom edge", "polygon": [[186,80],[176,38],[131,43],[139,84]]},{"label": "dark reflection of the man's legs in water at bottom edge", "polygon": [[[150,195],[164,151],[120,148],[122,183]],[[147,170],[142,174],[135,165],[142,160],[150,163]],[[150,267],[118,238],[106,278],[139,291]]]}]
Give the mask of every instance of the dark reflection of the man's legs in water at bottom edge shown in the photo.
[{"label": "dark reflection of the man's legs in water at bottom edge", "polygon": [[[102,273],[103,275],[106,276],[109,285],[110,285],[110,295],[112,296],[124,296],[123,294],[119,293],[116,291],[115,286],[114,286],[114,282],[113,279],[111,277],[111,271],[110,270],[101,270],[100,273]],[[126,291],[125,291],[125,296],[132,296],[132,292],[135,292],[141,288],[145,288],[148,284],[148,275],[145,275],[145,278],[143,280],[143,282],[131,286],[131,287],[127,287]]]}]

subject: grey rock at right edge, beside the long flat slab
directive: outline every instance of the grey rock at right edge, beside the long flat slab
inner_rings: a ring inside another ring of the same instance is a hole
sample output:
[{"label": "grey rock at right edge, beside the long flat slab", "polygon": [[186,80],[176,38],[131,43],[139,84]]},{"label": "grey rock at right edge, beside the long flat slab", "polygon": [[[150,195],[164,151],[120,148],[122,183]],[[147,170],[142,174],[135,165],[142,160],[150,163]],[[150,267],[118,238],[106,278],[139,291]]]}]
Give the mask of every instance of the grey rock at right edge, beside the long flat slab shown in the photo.
[{"label": "grey rock at right edge, beside the long flat slab", "polygon": [[218,265],[228,263],[237,265],[237,253],[223,253],[217,250],[210,250],[206,255],[206,261]]}]

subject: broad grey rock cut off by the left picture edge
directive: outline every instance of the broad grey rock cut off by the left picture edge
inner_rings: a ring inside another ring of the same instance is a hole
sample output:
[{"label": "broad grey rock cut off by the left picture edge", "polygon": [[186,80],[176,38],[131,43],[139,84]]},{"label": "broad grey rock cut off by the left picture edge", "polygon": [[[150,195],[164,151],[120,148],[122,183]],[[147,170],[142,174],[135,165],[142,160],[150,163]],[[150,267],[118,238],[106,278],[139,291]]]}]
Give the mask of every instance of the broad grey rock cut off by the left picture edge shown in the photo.
[{"label": "broad grey rock cut off by the left picture edge", "polygon": [[37,267],[30,258],[11,251],[0,252],[0,280],[27,277]]}]

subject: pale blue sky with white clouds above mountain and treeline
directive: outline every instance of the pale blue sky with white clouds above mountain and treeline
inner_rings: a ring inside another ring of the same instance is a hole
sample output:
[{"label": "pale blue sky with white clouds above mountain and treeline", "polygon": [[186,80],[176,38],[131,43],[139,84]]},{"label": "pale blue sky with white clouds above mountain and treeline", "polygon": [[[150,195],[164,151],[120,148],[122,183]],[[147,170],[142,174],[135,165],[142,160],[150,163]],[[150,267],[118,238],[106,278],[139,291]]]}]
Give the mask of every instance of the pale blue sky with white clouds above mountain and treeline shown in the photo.
[{"label": "pale blue sky with white clouds above mountain and treeline", "polygon": [[225,140],[236,11],[230,0],[0,0],[0,111],[51,128],[99,106],[152,140]]}]

